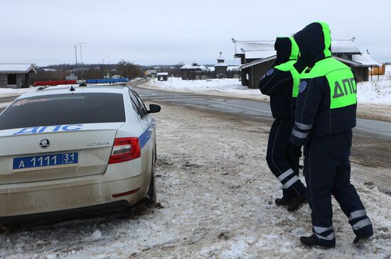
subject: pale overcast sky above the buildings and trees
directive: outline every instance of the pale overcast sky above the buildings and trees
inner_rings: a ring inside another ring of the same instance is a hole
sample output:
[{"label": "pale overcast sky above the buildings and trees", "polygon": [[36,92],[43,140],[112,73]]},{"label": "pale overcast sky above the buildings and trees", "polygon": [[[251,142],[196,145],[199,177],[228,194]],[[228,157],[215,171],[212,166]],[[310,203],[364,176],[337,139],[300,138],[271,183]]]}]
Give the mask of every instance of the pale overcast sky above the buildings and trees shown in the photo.
[{"label": "pale overcast sky above the buildings and trees", "polygon": [[[234,62],[236,40],[273,40],[312,21],[391,61],[390,1],[0,0],[0,63]],[[79,49],[77,49],[80,60]],[[235,61],[236,65],[238,64]]]}]

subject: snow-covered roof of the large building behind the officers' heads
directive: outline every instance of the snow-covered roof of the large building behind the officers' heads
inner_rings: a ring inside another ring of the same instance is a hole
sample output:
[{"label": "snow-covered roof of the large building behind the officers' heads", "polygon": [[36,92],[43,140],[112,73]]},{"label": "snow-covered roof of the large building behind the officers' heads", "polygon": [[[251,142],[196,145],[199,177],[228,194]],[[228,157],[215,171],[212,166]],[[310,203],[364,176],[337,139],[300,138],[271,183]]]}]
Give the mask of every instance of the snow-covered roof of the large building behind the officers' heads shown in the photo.
[{"label": "snow-covered roof of the large building behind the officers' heads", "polygon": [[[247,55],[251,52],[248,57],[252,58],[264,58],[260,57],[262,52],[273,52],[275,40],[254,40],[254,41],[236,41],[235,42],[235,55]],[[331,41],[331,52],[332,53],[350,53],[360,54],[360,50],[355,46],[353,40],[332,40]],[[259,57],[257,56],[259,55]],[[246,57],[247,59],[247,57]]]}]

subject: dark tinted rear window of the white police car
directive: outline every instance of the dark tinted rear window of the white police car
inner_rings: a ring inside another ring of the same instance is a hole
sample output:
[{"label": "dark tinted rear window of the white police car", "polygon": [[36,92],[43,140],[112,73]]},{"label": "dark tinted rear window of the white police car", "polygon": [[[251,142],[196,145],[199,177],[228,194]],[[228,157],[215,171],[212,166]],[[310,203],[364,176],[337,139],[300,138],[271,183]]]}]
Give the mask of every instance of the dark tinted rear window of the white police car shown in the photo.
[{"label": "dark tinted rear window of the white police car", "polygon": [[0,130],[123,121],[122,94],[50,94],[14,101],[0,116]]}]

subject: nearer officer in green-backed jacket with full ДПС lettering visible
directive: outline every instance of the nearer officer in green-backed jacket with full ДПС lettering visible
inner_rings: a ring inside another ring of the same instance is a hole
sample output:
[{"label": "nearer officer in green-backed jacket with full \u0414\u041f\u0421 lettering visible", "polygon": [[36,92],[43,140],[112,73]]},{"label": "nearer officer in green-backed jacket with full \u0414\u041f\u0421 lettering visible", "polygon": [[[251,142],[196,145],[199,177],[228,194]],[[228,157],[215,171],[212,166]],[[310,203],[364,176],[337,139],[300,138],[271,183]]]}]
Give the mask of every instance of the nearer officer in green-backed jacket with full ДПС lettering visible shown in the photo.
[{"label": "nearer officer in green-backed jacket with full \u0414\u041f\u0421 lettering visible", "polygon": [[355,187],[350,183],[350,147],[357,106],[356,83],[350,67],[331,57],[331,34],[326,23],[316,22],[294,35],[299,45],[301,73],[296,101],[294,153],[304,148],[304,176],[312,213],[312,231],[302,236],[306,246],[333,247],[331,195],[349,219],[356,237],[373,235],[373,227]]}]

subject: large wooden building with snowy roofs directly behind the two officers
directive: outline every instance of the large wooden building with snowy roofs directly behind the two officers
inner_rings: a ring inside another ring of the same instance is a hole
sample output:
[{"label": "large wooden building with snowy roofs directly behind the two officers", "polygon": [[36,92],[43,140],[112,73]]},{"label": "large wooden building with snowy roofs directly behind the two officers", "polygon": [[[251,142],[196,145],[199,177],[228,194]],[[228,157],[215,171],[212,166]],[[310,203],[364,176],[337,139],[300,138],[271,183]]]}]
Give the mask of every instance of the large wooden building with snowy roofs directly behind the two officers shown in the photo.
[{"label": "large wooden building with snowy roofs directly behind the two officers", "polygon": [[[257,88],[259,80],[269,70],[276,59],[274,40],[238,41],[235,44],[235,57],[240,58],[242,85]],[[368,81],[369,67],[378,64],[368,53],[361,53],[352,40],[332,40],[333,57],[352,67],[359,81]]]}]

